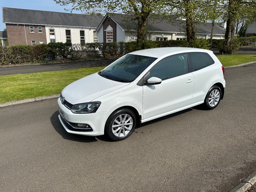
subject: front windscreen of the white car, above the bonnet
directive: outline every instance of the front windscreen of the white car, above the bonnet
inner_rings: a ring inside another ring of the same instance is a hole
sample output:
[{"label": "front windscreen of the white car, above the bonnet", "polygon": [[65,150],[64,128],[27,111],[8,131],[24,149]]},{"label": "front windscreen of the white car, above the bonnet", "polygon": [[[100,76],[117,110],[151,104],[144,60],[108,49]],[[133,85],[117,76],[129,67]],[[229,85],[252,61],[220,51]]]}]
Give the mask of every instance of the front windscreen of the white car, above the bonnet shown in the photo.
[{"label": "front windscreen of the white car, above the bonnet", "polygon": [[114,81],[132,82],[156,59],[128,54],[99,72],[99,75]]}]

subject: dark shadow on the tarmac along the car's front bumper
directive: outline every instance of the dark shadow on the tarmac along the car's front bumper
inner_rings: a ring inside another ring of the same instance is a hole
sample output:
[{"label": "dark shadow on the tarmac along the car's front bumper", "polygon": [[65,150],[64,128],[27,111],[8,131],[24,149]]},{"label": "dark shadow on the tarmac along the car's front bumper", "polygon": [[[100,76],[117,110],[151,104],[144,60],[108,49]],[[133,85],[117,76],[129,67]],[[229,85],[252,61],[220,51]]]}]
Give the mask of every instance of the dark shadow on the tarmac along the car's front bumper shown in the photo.
[{"label": "dark shadow on the tarmac along the car's front bumper", "polygon": [[57,131],[58,134],[60,134],[63,137],[63,139],[77,141],[77,142],[84,142],[84,143],[91,143],[91,142],[97,141],[96,138],[92,136],[84,136],[84,135],[76,135],[76,134],[68,133],[64,129],[64,127],[61,125],[61,122],[58,119],[58,114],[59,114],[58,111],[53,113],[50,120],[52,123],[52,127],[55,129],[55,131]]}]

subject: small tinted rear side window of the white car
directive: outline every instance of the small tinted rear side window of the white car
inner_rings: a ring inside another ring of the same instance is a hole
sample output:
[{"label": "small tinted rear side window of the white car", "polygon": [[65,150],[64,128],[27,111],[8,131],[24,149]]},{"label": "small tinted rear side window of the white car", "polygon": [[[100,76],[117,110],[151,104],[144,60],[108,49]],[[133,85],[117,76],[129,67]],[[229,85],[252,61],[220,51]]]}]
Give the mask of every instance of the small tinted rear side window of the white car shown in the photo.
[{"label": "small tinted rear side window of the white car", "polygon": [[206,52],[189,52],[189,71],[201,70],[214,64],[212,57]]}]

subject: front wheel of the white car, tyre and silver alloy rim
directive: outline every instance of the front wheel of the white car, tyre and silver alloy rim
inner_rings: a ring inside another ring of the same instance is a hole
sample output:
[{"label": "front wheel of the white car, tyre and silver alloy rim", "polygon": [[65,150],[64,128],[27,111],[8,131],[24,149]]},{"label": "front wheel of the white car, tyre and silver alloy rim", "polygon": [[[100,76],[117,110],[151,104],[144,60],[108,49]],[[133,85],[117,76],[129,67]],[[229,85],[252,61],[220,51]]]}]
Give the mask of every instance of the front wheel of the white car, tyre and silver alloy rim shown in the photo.
[{"label": "front wheel of the white car, tyre and silver alloy rim", "polygon": [[105,133],[111,140],[120,141],[129,137],[134,131],[136,116],[130,109],[114,111],[105,125]]}]

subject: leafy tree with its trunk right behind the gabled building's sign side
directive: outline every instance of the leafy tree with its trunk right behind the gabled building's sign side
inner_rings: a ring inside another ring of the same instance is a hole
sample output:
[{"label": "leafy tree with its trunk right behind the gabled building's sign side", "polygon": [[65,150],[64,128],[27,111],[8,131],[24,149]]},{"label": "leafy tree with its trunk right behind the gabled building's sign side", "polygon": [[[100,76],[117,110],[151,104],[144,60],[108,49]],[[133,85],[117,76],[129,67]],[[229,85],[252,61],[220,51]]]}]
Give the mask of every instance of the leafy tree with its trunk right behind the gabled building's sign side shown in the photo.
[{"label": "leafy tree with its trunk right behind the gabled building's sign side", "polygon": [[137,24],[137,42],[147,40],[147,26],[149,15],[169,15],[172,12],[167,8],[166,0],[54,0],[61,6],[72,4],[73,10],[93,12],[122,12],[131,15],[132,21]]}]

